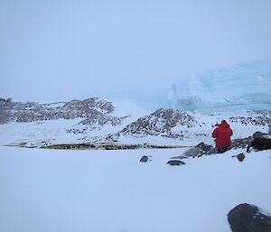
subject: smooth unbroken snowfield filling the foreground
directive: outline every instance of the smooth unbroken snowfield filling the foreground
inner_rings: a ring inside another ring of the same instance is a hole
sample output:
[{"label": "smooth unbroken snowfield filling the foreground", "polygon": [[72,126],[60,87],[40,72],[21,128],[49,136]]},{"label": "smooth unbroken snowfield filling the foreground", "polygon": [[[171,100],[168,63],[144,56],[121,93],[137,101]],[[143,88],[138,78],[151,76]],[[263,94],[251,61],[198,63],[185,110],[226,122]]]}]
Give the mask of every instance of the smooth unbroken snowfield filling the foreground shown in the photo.
[{"label": "smooth unbroken snowfield filling the foreground", "polygon": [[230,232],[227,214],[244,202],[271,215],[270,150],[166,164],[184,151],[1,146],[0,231]]}]

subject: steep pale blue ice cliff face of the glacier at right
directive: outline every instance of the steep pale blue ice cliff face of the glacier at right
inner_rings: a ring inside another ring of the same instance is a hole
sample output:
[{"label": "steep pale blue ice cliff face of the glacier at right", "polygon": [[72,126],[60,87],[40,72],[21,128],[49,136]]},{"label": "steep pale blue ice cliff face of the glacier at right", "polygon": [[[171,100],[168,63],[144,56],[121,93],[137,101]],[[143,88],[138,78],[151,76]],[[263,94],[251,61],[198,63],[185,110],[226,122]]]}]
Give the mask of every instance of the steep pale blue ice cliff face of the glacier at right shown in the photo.
[{"label": "steep pale blue ice cliff face of the glacier at right", "polygon": [[169,107],[179,109],[270,108],[271,59],[240,63],[173,82]]}]

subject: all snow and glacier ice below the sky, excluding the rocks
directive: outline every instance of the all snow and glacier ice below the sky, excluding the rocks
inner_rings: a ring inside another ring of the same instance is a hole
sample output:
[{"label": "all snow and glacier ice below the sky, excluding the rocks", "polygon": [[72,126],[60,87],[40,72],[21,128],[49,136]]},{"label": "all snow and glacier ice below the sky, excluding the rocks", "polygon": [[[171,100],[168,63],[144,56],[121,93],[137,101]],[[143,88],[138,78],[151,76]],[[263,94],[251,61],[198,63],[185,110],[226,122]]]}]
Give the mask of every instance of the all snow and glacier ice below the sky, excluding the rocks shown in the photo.
[{"label": "all snow and glacier ice below the sky, excluding the rocks", "polygon": [[[138,132],[120,135],[117,143],[213,145],[211,132],[222,119],[229,122],[232,139],[257,131],[268,133],[267,123],[229,119],[255,118],[257,114],[248,108],[270,108],[270,77],[271,60],[267,60],[194,75],[173,83],[167,93],[162,91],[164,86],[158,88],[159,83],[148,88],[147,95],[144,90],[140,95],[131,91],[134,100],[137,97],[148,107],[192,109],[187,113],[198,124],[173,127],[171,131],[184,135],[183,139]],[[82,118],[0,125],[1,232],[230,232],[227,214],[244,202],[271,215],[270,150],[246,153],[244,162],[232,157],[245,153],[238,149],[185,159],[185,165],[173,167],[166,162],[187,148],[67,151],[16,147],[91,142],[154,112],[129,97],[114,101],[113,106],[108,116],[126,116],[121,125],[81,125]],[[160,120],[157,126],[162,125]],[[72,129],[83,134],[67,133]],[[152,161],[140,163],[143,155]]]}]

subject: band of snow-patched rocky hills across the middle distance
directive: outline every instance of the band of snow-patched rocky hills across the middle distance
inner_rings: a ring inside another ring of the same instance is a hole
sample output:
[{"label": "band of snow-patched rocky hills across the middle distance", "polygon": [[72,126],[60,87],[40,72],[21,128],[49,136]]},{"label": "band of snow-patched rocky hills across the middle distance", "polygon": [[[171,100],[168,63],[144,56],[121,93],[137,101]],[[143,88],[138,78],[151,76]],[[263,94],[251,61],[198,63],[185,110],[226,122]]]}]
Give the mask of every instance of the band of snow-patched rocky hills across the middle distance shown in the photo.
[{"label": "band of snow-patched rocky hills across the middle distance", "polygon": [[226,119],[234,138],[260,131],[271,134],[271,111],[237,111],[224,114],[160,108],[148,111],[129,102],[99,98],[50,104],[2,99],[0,144],[213,144],[210,134]]}]

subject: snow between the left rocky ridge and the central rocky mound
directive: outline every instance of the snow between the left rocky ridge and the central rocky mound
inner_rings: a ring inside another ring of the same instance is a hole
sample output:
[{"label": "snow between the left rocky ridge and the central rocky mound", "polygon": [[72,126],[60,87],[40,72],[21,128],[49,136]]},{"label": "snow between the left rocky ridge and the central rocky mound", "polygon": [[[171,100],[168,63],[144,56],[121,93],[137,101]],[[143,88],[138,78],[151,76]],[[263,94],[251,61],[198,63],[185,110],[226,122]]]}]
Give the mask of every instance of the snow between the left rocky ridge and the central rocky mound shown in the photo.
[{"label": "snow between the left rocky ridge and the central rocky mound", "polygon": [[[48,107],[61,107],[62,103],[48,103]],[[127,116],[121,125],[81,125],[83,118],[57,119],[37,121],[31,123],[9,123],[0,125],[0,144],[28,143],[40,145],[42,142],[51,144],[83,143],[89,138],[96,138],[108,134],[114,134],[122,130],[126,125],[137,120],[140,116],[150,114],[151,111],[138,107],[127,101],[114,102],[115,110],[110,116]],[[102,109],[98,109],[105,113]],[[67,133],[67,130],[86,128],[85,134]]]}]

